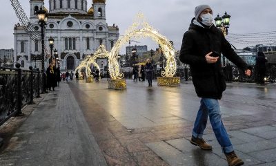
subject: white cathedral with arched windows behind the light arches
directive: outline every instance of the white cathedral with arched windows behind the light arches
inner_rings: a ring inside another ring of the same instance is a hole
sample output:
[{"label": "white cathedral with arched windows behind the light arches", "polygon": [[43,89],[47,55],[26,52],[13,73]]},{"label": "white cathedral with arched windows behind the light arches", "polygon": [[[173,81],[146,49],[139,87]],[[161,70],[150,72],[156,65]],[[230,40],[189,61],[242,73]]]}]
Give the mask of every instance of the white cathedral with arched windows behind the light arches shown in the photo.
[{"label": "white cathedral with arched windows behind the light arches", "polygon": [[[30,0],[30,22],[41,32],[35,12],[44,6],[44,0]],[[106,0],[92,0],[87,10],[86,0],[49,0],[45,47],[50,53],[48,39],[53,37],[61,70],[74,70],[82,59],[95,53],[100,44],[108,51],[119,39],[119,28],[106,23]],[[19,24],[14,26],[14,61],[21,68],[36,66],[41,69],[41,42],[33,41]],[[50,55],[46,55],[49,59]],[[47,58],[46,57],[46,58]],[[48,67],[45,60],[45,67]],[[106,66],[103,59],[99,66]]]}]

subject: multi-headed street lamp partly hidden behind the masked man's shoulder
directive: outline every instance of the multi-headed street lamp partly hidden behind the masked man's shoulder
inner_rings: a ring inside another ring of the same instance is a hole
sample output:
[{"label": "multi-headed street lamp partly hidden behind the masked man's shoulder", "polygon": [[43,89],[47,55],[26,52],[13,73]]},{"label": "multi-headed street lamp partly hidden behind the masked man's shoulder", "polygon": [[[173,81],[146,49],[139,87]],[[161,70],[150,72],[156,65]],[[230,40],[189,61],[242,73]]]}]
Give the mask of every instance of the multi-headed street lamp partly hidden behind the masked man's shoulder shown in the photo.
[{"label": "multi-headed street lamp partly hidden behind the masked man's shoulder", "polygon": [[[224,13],[222,17],[215,17],[215,24],[217,28],[221,30],[222,33],[224,33],[224,36],[228,35],[228,28],[230,26],[230,15],[227,14],[227,12]],[[222,63],[225,66],[225,57],[222,55]]]}]

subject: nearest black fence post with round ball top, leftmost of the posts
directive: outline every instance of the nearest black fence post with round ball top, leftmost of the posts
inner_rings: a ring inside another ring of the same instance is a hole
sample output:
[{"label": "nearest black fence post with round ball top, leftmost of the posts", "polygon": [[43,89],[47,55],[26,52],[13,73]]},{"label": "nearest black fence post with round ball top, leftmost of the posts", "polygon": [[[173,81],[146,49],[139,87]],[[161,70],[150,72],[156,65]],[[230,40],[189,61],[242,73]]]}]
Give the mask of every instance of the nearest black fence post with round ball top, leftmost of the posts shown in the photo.
[{"label": "nearest black fence post with round ball top, leftmost of the posts", "polygon": [[23,116],[23,113],[21,111],[21,104],[22,104],[22,98],[21,98],[21,68],[20,64],[15,64],[15,67],[17,68],[17,114],[16,116]]}]

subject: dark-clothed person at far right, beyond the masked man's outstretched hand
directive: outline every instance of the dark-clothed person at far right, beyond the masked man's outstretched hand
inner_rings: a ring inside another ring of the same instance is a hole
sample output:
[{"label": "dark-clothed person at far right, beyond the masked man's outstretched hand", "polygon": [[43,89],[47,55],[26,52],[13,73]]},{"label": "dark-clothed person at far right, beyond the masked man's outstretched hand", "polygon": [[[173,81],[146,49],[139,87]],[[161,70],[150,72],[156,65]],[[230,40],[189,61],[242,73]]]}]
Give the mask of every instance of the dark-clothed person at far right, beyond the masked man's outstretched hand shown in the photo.
[{"label": "dark-clothed person at far right, beyond the masked man's outstretched hand", "polygon": [[258,52],[256,57],[256,76],[257,83],[264,85],[264,77],[266,77],[266,57],[263,52]]}]

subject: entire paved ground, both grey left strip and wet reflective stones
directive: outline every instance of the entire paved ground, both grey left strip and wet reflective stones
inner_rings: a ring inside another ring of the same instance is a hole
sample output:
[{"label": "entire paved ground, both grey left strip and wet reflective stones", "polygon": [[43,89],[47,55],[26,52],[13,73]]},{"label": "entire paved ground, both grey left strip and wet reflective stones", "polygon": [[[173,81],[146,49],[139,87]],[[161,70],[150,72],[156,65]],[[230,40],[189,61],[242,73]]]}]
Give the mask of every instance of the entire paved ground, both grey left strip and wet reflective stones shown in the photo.
[{"label": "entire paved ground, both grey left strip and wet reflective stones", "polygon": [[[190,145],[199,107],[193,84],[127,85],[61,83],[14,134],[0,165],[227,165],[209,122],[204,138],[213,151]],[[245,165],[276,165],[275,92],[275,84],[231,83],[220,100]]]}]

